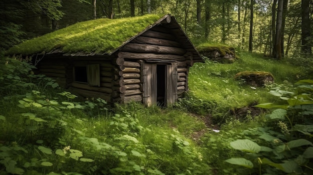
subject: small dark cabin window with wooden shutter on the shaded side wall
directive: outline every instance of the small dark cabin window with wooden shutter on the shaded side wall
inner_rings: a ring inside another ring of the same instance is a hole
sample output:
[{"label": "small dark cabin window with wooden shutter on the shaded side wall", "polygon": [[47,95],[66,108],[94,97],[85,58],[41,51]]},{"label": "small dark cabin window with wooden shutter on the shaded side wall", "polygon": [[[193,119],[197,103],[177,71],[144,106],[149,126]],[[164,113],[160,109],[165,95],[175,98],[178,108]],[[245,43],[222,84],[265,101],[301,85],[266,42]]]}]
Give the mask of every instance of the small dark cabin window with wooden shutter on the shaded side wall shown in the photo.
[{"label": "small dark cabin window with wooden shutter on the shaded side wall", "polygon": [[100,86],[100,65],[75,66],[74,81],[88,83],[90,86]]}]

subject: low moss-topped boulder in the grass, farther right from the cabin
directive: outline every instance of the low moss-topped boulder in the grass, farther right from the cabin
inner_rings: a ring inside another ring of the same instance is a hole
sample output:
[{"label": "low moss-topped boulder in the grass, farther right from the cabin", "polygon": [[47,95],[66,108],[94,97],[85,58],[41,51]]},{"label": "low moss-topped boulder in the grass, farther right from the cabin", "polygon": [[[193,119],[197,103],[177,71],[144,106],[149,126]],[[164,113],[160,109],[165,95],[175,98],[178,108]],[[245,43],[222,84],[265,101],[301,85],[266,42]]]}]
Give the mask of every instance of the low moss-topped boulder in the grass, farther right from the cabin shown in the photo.
[{"label": "low moss-topped boulder in the grass, farther right from the cabin", "polygon": [[254,87],[261,87],[274,82],[274,76],[270,72],[243,71],[234,76],[234,79],[243,81]]}]

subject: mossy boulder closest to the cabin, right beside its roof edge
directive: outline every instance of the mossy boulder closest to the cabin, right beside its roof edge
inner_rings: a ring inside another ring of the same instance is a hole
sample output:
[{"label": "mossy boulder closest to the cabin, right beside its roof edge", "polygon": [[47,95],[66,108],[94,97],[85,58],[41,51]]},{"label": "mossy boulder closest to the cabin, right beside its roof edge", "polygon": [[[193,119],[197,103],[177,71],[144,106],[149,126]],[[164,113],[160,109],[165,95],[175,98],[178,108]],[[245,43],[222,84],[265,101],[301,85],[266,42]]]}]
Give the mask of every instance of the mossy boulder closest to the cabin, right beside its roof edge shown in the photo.
[{"label": "mossy boulder closest to the cabin, right beside its roof edge", "polygon": [[224,44],[203,43],[196,47],[202,56],[220,63],[233,63],[237,59],[234,47]]}]

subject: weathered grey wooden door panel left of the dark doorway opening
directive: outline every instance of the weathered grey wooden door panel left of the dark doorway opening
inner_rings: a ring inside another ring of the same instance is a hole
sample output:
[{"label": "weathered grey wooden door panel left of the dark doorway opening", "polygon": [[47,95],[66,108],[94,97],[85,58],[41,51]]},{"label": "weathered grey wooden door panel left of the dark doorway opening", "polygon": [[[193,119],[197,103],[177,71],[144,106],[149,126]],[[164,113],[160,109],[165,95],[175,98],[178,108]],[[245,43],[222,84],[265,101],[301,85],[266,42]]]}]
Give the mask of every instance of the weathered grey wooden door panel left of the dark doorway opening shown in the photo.
[{"label": "weathered grey wooden door panel left of the dark doorway opening", "polygon": [[143,64],[143,103],[147,106],[156,105],[156,64]]}]

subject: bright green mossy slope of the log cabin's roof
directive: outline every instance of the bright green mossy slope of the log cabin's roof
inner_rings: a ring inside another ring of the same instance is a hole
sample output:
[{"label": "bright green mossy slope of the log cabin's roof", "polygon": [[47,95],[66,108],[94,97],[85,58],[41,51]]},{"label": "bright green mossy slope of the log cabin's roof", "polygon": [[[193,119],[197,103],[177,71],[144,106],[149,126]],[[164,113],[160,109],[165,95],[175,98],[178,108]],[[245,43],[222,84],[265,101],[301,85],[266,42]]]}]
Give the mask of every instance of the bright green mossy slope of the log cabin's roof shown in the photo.
[{"label": "bright green mossy slope of the log cabin's roof", "polygon": [[160,17],[162,16],[149,14],[120,19],[100,18],[78,22],[13,46],[6,54],[31,55],[42,51],[49,52],[57,48],[62,49],[63,53],[79,51],[109,53],[153,24]]}]

